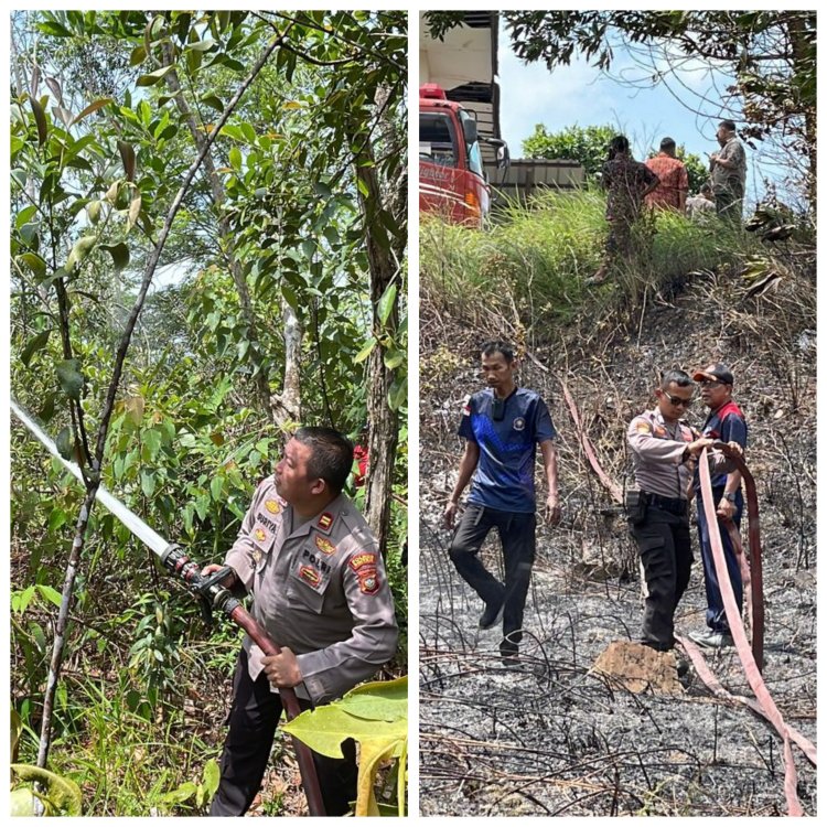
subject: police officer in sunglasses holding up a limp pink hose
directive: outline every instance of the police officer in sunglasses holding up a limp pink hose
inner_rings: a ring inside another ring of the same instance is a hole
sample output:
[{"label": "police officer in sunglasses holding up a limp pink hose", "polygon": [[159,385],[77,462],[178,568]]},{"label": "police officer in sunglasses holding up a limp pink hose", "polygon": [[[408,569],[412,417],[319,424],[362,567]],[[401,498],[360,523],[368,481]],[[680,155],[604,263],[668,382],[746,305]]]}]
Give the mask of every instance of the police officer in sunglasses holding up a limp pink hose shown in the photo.
[{"label": "police officer in sunglasses holding up a limp pink hose", "polygon": [[[667,370],[655,388],[657,406],[635,417],[626,433],[635,476],[635,490],[626,492],[626,516],[647,591],[640,642],[660,652],[675,646],[675,610],[689,584],[694,460],[715,441],[699,438],[680,419],[694,394],[695,383],[684,370]],[[734,442],[723,450],[741,455]],[[709,462],[718,473],[730,468],[718,451],[710,451]]]}]

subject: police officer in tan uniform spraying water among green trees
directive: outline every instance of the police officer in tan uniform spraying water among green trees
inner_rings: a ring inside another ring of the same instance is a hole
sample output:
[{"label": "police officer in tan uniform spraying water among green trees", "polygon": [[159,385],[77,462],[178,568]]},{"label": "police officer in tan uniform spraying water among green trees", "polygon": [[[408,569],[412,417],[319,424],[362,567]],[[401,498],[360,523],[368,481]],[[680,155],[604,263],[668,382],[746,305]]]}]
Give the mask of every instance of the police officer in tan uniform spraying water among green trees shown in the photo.
[{"label": "police officer in tan uniform spraying water among green trees", "polygon": [[[258,793],[282,710],[278,688],[294,688],[309,709],[366,680],[396,652],[382,556],[341,493],[352,464],[353,445],[337,431],[300,428],[227,554],[234,589],[253,595],[253,615],[281,653],[268,657],[245,637],[211,816],[244,815]],[[343,751],[345,760],[314,754],[327,815],[347,813],[356,797],[353,741]]]}]

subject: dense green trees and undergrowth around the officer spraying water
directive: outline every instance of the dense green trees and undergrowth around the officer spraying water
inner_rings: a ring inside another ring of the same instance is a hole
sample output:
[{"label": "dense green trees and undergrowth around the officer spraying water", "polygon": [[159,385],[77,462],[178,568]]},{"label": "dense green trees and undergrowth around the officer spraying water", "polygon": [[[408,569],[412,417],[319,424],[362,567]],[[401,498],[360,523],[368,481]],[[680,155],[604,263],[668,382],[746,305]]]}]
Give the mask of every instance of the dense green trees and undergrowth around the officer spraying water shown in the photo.
[{"label": "dense green trees and undergrowth around the officer spraying water", "polygon": [[[333,425],[369,448],[350,493],[407,616],[406,26],[13,15],[11,388],[86,491],[13,429],[12,702],[21,761],[86,814],[203,812],[238,646],[99,484],[221,560],[284,433]],[[301,810],[294,782],[266,812]]]}]

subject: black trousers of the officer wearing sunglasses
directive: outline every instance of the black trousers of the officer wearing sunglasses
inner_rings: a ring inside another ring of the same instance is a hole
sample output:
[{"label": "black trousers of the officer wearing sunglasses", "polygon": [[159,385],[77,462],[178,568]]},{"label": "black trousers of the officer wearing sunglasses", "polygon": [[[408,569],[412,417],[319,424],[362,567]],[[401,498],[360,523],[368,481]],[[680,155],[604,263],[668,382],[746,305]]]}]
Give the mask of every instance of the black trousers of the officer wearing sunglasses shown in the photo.
[{"label": "black trousers of the officer wearing sunglasses", "polygon": [[654,505],[641,525],[630,525],[643,562],[648,597],[643,611],[643,642],[657,649],[675,645],[675,610],[689,584],[692,544],[689,515]]}]

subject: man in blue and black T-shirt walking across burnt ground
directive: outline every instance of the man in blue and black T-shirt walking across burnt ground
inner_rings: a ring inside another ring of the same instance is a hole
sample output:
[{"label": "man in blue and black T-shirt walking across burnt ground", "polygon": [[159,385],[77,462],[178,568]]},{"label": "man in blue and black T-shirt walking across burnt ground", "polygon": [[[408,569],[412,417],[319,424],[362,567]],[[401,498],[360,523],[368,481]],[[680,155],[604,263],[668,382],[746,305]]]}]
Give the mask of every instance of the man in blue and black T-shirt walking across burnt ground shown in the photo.
[{"label": "man in blue and black T-shirt walking across burnt ground", "polygon": [[[550,525],[560,520],[552,442],[557,433],[539,395],[517,387],[512,347],[487,342],[481,355],[487,388],[469,397],[463,407],[459,436],[465,439],[465,452],[444,523],[453,528],[460,495],[471,482],[465,512],[451,543],[451,560],[485,603],[480,627],[492,629],[502,619],[500,652],[506,663],[513,663],[523,638],[523,611],[536,550],[534,466],[538,444],[548,481],[547,519]],[[492,528],[497,529],[503,544],[505,583],[479,557]]]}]

